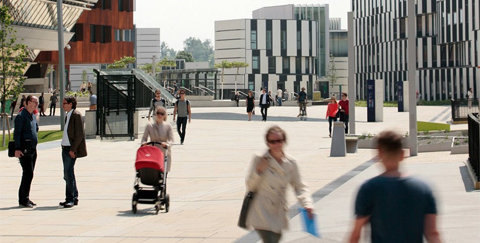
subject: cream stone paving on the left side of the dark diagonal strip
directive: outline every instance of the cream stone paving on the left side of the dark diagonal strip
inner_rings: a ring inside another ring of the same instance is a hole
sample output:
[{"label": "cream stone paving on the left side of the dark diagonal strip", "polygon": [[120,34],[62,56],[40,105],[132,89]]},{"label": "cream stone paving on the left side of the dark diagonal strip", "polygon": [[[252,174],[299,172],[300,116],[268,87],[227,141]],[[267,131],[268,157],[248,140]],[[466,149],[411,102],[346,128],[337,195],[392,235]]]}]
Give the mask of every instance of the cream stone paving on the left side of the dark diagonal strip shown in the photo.
[{"label": "cream stone paving on the left side of the dark diagonal strip", "polygon": [[[0,152],[0,241],[232,242],[247,233],[236,226],[245,193],[245,174],[253,154],[263,153],[266,148],[264,133],[272,124],[286,130],[286,151],[298,159],[312,192],[375,156],[372,150],[359,150],[345,158],[330,158],[325,109],[309,107],[311,117],[301,122],[292,118],[297,108],[275,107],[269,109],[269,121],[259,121],[256,115],[255,121],[248,122],[245,108],[193,108],[185,144],[173,148],[172,171],[167,180],[171,209],[159,215],[154,214],[151,205],[138,205],[137,214],[131,213],[138,139],[87,140],[89,155],[78,159],[75,166],[80,202],[71,209],[57,206],[65,191],[58,141],[39,149],[31,191],[31,199],[38,204],[34,209],[18,207],[21,167],[15,158],[7,157],[6,151]],[[366,111],[358,109],[357,113]],[[431,119],[442,111],[433,107],[419,114]],[[385,115],[382,123],[359,122],[357,131],[408,130],[404,126],[408,124],[408,113],[386,108]],[[175,139],[178,142],[176,133]],[[465,155],[438,157],[465,160]],[[292,192],[288,201],[296,203]]]}]

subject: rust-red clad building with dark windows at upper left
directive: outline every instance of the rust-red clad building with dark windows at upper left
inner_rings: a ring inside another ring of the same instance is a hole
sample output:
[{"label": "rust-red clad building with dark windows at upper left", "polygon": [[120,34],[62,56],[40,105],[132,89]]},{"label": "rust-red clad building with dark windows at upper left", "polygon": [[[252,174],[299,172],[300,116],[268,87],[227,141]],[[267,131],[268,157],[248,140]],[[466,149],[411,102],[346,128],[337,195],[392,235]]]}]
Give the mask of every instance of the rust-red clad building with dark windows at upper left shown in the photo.
[{"label": "rust-red clad building with dark windows at upper left", "polygon": [[[39,0],[34,0],[33,2],[36,1],[46,2]],[[92,68],[89,66],[70,68],[70,65],[91,65],[91,67],[97,67],[100,64],[113,63],[124,56],[134,55],[134,0],[101,0],[94,2],[96,3],[90,6],[90,11],[85,11],[76,23],[69,25],[67,28],[68,31],[74,33],[71,38],[68,38],[70,40],[68,42],[70,49],[67,48],[65,50],[67,83],[73,90],[80,87],[81,78],[70,82],[71,71],[75,71],[73,74],[75,78],[80,76],[84,69],[88,71],[90,80],[93,79],[93,74]],[[53,5],[55,4],[54,2]],[[54,65],[54,69],[57,70],[58,51],[40,52],[35,62],[39,66]],[[52,82],[52,86],[58,88],[57,72],[55,71],[54,74],[57,81]],[[30,75],[29,78],[41,77],[43,74],[31,72]]]}]

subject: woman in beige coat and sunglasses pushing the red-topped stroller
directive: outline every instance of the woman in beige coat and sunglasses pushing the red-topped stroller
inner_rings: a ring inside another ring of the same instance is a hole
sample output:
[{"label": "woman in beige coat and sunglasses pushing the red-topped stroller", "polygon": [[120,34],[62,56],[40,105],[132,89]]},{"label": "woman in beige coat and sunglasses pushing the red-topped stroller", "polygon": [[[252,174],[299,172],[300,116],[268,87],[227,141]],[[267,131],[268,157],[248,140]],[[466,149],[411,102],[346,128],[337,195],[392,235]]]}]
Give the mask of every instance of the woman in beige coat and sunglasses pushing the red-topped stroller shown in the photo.
[{"label": "woman in beige coat and sunglasses pushing the red-topped stroller", "polygon": [[150,136],[150,141],[161,142],[161,144],[155,144],[155,147],[162,150],[163,153],[167,153],[167,169],[166,172],[170,172],[172,165],[172,144],[173,144],[173,128],[167,121],[167,110],[163,106],[157,107],[157,115],[155,116],[155,123],[149,123],[145,127],[143,137],[141,138],[141,145],[147,144],[147,139]]}]

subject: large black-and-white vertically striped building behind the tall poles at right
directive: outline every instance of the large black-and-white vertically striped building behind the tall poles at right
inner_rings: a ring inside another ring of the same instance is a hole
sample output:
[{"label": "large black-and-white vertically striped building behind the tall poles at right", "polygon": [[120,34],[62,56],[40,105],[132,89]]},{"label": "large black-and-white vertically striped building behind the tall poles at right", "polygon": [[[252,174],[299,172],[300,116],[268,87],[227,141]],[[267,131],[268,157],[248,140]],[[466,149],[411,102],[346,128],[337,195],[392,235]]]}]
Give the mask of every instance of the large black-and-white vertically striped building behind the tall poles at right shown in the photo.
[{"label": "large black-and-white vertically striped building behind the tall poles at right", "polygon": [[[357,98],[366,80],[383,79],[385,100],[397,100],[397,83],[407,75],[407,1],[352,0]],[[480,80],[479,0],[417,0],[417,82],[428,101],[464,98]],[[410,22],[411,23],[411,22]]]}]

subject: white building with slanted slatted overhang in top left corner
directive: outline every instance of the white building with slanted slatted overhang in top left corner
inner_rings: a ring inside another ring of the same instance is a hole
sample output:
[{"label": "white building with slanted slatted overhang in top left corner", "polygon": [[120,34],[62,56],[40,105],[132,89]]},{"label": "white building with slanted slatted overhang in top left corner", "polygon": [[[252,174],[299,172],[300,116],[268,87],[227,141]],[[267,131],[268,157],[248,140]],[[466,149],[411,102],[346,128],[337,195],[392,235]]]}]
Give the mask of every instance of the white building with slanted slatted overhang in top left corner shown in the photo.
[{"label": "white building with slanted slatted overhang in top left corner", "polygon": [[[98,0],[63,1],[64,43],[74,35],[74,28],[84,12],[90,12]],[[45,79],[47,65],[31,65],[42,51],[58,51],[57,3],[54,1],[24,0],[2,1],[0,6],[7,6],[16,31],[17,41],[27,46],[28,65],[25,76],[35,77],[24,83],[27,92],[46,91],[48,80]]]}]

